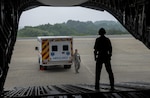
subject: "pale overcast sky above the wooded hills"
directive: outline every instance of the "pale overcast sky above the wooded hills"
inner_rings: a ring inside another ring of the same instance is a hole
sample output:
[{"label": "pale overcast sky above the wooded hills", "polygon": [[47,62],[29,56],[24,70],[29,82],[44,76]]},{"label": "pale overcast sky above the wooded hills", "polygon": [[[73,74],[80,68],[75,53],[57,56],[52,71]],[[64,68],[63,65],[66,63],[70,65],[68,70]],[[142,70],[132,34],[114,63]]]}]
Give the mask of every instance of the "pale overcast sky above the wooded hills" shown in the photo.
[{"label": "pale overcast sky above the wooded hills", "polygon": [[37,26],[41,24],[63,23],[68,20],[79,21],[117,21],[111,14],[83,7],[37,7],[24,11],[19,26]]}]

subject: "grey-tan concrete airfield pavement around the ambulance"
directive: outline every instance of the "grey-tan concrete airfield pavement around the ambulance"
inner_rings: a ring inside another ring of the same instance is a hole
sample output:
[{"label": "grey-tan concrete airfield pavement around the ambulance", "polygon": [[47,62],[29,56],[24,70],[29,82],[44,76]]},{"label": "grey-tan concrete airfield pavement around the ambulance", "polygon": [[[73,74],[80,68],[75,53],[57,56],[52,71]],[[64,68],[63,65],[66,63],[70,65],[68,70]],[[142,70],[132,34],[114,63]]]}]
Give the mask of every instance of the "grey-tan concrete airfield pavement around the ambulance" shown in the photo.
[{"label": "grey-tan concrete airfield pavement around the ambulance", "polygon": [[[115,83],[149,82],[150,50],[133,37],[110,37],[113,46],[112,69]],[[39,70],[36,39],[18,39],[16,41],[11,64],[4,89],[57,84],[94,84],[95,61],[93,55],[94,37],[75,37],[74,49],[81,55],[81,68],[75,74],[74,66],[64,69],[62,66]],[[105,67],[102,69],[101,83],[109,83]]]}]

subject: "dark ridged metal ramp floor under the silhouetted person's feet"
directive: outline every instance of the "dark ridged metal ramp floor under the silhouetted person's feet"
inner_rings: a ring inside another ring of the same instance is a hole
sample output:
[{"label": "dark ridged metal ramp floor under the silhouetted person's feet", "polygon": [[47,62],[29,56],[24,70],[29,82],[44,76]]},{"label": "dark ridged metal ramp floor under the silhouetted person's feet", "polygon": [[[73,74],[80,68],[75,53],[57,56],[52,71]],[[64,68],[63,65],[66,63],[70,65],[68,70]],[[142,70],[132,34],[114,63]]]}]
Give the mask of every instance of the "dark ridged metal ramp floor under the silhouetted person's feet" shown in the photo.
[{"label": "dark ridged metal ramp floor under the silhouetted person's feet", "polygon": [[150,98],[150,84],[118,83],[115,90],[108,84],[100,84],[96,91],[94,85],[47,85],[17,88],[5,91],[4,98]]}]

